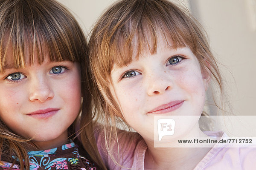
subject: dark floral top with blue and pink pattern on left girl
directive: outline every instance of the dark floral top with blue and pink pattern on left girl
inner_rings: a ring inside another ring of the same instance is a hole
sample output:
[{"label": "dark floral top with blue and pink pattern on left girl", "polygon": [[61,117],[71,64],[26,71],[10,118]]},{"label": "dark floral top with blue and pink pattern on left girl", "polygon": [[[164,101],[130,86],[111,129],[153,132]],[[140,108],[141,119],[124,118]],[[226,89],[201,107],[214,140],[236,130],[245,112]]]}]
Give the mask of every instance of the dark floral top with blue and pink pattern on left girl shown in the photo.
[{"label": "dark floral top with blue and pink pattern on left girl", "polygon": [[[76,144],[71,142],[49,150],[28,152],[30,170],[96,170],[96,167],[79,155]],[[11,163],[0,165],[0,170],[9,170]],[[14,165],[11,170],[19,170]]]}]

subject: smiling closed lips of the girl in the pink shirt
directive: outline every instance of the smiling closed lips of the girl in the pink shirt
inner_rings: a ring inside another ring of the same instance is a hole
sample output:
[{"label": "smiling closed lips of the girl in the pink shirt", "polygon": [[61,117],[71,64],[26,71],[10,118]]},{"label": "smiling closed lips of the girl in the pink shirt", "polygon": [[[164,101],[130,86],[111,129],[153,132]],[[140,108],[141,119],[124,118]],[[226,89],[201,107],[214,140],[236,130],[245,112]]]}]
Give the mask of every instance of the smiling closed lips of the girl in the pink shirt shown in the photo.
[{"label": "smiling closed lips of the girl in the pink shirt", "polygon": [[175,111],[177,108],[183,104],[184,100],[177,100],[173,102],[169,102],[165,105],[161,105],[153,110],[149,111],[148,113],[160,114],[160,113],[168,113],[171,111]]}]

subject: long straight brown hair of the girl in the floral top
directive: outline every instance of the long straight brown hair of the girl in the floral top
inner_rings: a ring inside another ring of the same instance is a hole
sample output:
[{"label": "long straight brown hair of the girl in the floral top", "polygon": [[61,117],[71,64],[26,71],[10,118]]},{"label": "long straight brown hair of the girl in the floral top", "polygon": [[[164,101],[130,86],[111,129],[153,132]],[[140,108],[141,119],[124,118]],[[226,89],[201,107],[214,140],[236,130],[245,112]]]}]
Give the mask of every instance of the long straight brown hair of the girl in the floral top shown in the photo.
[{"label": "long straight brown hair of the girl in the floral top", "polygon": [[[81,144],[92,161],[104,169],[93,138],[87,41],[72,14],[55,0],[0,0],[0,72],[4,72],[7,65],[9,46],[12,48],[15,68],[24,68],[34,61],[41,64],[45,56],[49,56],[50,61],[80,63],[83,102],[86,105],[76,122],[70,126],[69,134],[76,134],[75,129],[80,126],[78,124],[82,119],[84,128],[80,131],[83,139]],[[25,63],[25,54],[29,55],[29,63]],[[24,160],[19,162],[21,170],[29,169],[26,143],[29,140],[12,133],[0,120],[1,161],[12,161],[14,164],[12,156],[15,156],[18,160]]]}]

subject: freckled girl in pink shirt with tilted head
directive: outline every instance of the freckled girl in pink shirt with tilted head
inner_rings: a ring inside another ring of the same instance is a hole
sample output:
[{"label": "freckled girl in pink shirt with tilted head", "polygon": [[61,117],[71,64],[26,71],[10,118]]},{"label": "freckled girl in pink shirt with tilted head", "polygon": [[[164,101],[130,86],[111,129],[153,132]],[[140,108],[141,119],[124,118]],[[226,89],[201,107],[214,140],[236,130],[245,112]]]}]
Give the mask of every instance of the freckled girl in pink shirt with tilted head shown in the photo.
[{"label": "freckled girl in pink shirt with tilted head", "polygon": [[[95,108],[104,122],[104,128],[96,129],[96,140],[109,169],[255,167],[256,150],[250,147],[171,147],[181,137],[227,137],[223,132],[202,132],[199,126],[199,117],[207,115],[209,85],[220,92],[223,101],[216,106],[221,110],[225,95],[206,34],[185,9],[167,0],[121,0],[96,22],[89,57]],[[163,137],[170,147],[155,147],[156,116],[197,119],[177,120],[175,134]],[[122,122],[136,132],[119,130]]]}]

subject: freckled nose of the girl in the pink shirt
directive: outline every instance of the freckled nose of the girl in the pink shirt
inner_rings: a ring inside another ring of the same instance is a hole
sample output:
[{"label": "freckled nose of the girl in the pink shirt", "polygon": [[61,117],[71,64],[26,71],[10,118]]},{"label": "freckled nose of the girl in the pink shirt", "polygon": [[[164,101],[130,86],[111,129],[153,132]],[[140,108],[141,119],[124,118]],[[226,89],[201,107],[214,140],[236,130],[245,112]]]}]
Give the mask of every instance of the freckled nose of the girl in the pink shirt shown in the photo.
[{"label": "freckled nose of the girl in the pink shirt", "polygon": [[[169,75],[170,76],[170,75]],[[157,94],[163,94],[173,88],[173,82],[171,77],[168,77],[167,73],[154,73],[146,76],[147,80],[147,94],[153,96]]]}]

